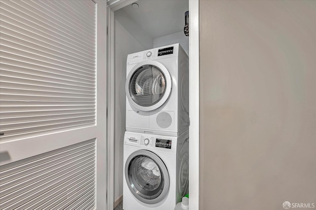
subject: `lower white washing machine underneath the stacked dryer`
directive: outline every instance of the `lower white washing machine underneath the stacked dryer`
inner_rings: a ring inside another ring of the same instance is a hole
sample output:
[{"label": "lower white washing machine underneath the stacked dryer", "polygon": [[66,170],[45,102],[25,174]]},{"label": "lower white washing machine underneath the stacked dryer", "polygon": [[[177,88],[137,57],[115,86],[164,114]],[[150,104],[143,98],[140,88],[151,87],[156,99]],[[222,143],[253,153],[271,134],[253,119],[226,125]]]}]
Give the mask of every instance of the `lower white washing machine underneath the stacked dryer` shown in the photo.
[{"label": "lower white washing machine underneath the stacked dryer", "polygon": [[189,130],[179,137],[125,132],[123,210],[173,210],[189,187]]}]

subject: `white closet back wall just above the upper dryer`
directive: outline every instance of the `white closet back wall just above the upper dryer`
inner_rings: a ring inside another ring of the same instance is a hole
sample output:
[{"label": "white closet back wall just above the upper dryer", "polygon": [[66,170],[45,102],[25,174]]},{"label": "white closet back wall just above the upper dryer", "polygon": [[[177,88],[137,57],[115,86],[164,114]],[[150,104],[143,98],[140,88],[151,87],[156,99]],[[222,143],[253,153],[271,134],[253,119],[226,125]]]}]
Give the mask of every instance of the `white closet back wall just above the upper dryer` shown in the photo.
[{"label": "white closet back wall just above the upper dryer", "polygon": [[155,38],[153,48],[175,43],[180,43],[184,51],[189,55],[189,36],[184,35],[183,31]]}]

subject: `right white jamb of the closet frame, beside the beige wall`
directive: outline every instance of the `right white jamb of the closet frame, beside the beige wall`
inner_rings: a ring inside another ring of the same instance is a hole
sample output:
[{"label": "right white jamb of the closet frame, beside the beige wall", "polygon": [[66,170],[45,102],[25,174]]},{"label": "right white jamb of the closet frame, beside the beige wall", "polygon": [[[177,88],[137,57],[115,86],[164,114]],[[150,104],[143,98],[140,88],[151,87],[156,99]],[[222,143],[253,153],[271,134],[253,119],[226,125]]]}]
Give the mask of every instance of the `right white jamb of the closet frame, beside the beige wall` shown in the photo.
[{"label": "right white jamb of the closet frame, beside the beige wall", "polygon": [[199,209],[199,0],[189,0],[189,210]]}]

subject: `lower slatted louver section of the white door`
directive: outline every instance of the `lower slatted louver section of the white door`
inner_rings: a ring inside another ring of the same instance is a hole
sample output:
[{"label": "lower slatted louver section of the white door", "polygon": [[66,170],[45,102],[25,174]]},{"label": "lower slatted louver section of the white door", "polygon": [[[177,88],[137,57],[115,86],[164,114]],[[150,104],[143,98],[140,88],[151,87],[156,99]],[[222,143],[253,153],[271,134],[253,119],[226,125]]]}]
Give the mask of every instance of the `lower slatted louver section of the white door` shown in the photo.
[{"label": "lower slatted louver section of the white door", "polygon": [[0,210],[95,208],[95,139],[0,166]]}]

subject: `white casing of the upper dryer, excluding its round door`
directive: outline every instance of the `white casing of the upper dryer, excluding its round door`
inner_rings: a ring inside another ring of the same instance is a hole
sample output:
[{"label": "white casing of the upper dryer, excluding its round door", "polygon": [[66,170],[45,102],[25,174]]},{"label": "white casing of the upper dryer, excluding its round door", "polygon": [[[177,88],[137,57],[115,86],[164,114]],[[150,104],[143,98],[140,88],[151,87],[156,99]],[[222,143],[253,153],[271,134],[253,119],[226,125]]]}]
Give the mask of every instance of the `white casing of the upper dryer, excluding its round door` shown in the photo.
[{"label": "white casing of the upper dryer, excluding its round door", "polygon": [[[170,47],[173,47],[172,52]],[[127,56],[127,74],[143,61],[147,65],[155,61],[164,66],[171,76],[172,87],[167,100],[164,98],[154,110],[141,111],[135,107],[135,102],[129,101],[130,97],[126,97],[126,131],[179,136],[189,128],[189,58],[179,44],[133,53]],[[146,117],[145,112],[148,112]],[[163,121],[171,121],[171,124]]]}]

